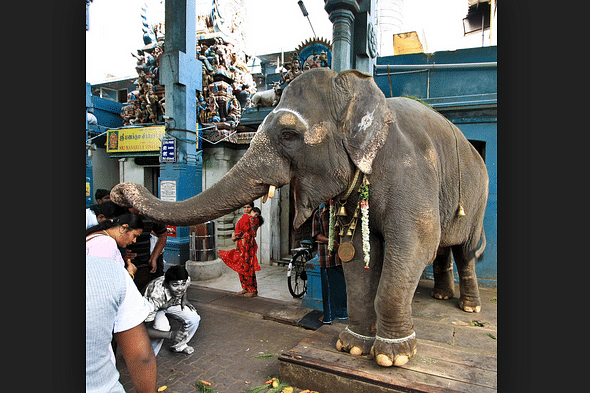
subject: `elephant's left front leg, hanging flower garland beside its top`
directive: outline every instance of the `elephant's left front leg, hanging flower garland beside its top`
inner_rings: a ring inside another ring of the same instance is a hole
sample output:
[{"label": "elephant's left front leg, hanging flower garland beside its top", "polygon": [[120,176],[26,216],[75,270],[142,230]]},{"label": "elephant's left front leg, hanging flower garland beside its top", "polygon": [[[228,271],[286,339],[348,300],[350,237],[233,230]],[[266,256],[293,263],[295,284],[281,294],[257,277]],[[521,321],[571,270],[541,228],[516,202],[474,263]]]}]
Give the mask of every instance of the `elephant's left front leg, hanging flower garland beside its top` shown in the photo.
[{"label": "elephant's left front leg, hanging flower garland beside its top", "polygon": [[[340,333],[336,349],[354,356],[367,355],[371,351],[377,331],[375,294],[381,276],[383,243],[371,239],[371,268],[365,269],[360,236],[354,247],[355,258],[343,263],[346,278],[348,326]],[[360,250],[360,251],[359,251]]]}]

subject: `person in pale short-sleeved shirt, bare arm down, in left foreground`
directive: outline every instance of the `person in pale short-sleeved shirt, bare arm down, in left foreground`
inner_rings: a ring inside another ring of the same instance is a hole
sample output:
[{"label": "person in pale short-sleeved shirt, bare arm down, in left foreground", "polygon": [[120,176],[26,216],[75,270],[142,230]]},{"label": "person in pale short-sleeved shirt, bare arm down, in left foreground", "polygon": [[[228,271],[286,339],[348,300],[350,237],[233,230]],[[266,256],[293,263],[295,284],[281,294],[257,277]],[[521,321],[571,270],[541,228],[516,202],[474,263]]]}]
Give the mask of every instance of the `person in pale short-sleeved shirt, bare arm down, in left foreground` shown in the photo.
[{"label": "person in pale short-sleeved shirt, bare arm down, in left foreground", "polygon": [[86,392],[125,392],[113,359],[113,337],[135,390],[156,391],[156,357],[142,323],[150,311],[117,262],[86,257]]}]

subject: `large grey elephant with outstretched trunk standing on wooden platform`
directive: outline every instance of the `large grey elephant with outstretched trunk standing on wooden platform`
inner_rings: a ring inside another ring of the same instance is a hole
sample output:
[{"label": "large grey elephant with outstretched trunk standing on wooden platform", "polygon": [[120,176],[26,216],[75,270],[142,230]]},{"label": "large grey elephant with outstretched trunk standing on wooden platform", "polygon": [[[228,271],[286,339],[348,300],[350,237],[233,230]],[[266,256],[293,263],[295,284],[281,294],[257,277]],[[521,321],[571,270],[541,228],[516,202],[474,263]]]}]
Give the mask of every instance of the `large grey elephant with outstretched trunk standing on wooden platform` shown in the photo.
[{"label": "large grey elephant with outstretched trunk standing on wooden platform", "polygon": [[[355,176],[359,173],[359,176]],[[405,97],[385,98],[357,70],[304,72],[284,90],[244,156],[216,184],[180,202],[164,202],[140,185],[121,183],[111,199],[170,225],[202,223],[291,185],[298,228],[322,202],[342,201],[352,217],[360,175],[369,188],[370,261],[355,231],[354,257],[343,263],[348,326],[336,347],[372,355],[384,367],[416,354],[412,298],[433,264],[431,295],[454,295],[479,312],[475,262],[485,248],[488,174],[480,154],[440,113]],[[350,194],[350,195],[347,195]],[[346,199],[346,201],[343,201]]]}]

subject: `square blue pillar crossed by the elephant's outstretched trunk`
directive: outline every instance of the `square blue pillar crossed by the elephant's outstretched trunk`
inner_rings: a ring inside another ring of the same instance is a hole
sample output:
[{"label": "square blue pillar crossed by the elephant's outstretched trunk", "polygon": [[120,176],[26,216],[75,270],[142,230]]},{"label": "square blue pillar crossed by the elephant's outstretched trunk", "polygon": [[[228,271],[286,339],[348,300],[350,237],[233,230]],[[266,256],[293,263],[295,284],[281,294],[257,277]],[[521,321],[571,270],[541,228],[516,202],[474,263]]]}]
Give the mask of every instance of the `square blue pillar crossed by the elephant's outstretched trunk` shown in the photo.
[{"label": "square blue pillar crossed by the elephant's outstretched trunk", "polygon": [[[199,194],[202,188],[196,118],[202,63],[195,57],[195,1],[167,0],[165,7],[165,51],[159,57],[159,82],[166,87],[162,145],[171,144],[175,154],[160,165],[159,193],[160,199],[175,202]],[[164,260],[167,265],[184,265],[189,259],[189,228],[173,227],[171,232],[175,236],[168,239]]]}]

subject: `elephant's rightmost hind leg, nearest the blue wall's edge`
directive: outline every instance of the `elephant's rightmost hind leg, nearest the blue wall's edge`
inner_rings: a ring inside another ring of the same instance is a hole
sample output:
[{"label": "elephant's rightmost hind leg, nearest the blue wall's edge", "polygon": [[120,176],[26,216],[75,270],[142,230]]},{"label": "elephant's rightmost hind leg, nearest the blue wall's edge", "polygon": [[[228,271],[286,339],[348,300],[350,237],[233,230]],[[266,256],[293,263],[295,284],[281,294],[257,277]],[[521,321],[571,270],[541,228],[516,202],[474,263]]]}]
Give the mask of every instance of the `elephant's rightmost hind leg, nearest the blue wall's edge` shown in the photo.
[{"label": "elephant's rightmost hind leg, nearest the blue wall's edge", "polygon": [[453,256],[459,273],[459,308],[466,312],[480,312],[481,299],[475,275],[475,255],[468,244],[453,246]]}]

